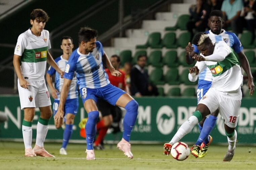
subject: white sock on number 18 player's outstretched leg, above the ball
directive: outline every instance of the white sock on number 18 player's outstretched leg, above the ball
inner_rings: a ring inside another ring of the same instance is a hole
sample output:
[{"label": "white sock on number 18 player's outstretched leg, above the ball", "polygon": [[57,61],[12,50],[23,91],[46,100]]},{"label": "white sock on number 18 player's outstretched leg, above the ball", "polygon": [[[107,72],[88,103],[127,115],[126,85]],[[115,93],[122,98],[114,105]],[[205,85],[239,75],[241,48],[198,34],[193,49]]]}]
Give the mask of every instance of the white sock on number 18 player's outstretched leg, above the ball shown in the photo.
[{"label": "white sock on number 18 player's outstretched leg, above the ball", "polygon": [[193,127],[198,124],[198,118],[194,115],[190,116],[178,129],[172,140],[169,142],[172,145],[179,142],[186,134],[192,131]]}]

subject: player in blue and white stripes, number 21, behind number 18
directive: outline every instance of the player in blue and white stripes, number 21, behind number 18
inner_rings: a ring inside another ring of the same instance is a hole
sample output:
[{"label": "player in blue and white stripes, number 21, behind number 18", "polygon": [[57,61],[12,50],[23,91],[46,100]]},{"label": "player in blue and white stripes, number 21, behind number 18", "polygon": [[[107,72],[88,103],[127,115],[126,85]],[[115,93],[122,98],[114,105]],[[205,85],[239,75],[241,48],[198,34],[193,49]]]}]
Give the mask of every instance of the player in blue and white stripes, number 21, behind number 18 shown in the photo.
[{"label": "player in blue and white stripes, number 21, behind number 18", "polygon": [[[229,47],[232,47],[233,50],[238,54],[240,63],[245,70],[246,74],[248,75],[248,88],[254,89],[254,84],[253,84],[253,77],[251,74],[251,70],[249,67],[248,60],[243,53],[243,47],[236,36],[236,34],[232,32],[227,32],[224,29],[222,29],[222,26],[224,24],[223,21],[223,14],[222,11],[220,10],[213,10],[210,13],[210,18],[209,18],[209,27],[210,30],[206,31],[210,39],[212,40],[213,43],[216,43],[218,41],[224,41],[227,43]],[[196,45],[191,46],[190,43],[186,47],[186,62],[188,64],[193,63],[193,59],[191,56],[194,56],[195,54],[199,54],[199,50],[197,49]],[[196,63],[196,67],[199,63]],[[191,74],[189,74],[189,79],[191,80]],[[192,81],[196,81],[197,79],[194,79]],[[204,71],[202,71],[199,74],[199,81],[198,81],[198,102],[202,99],[202,97],[206,94],[208,89],[211,87],[211,82],[212,82],[212,75],[211,71],[206,68]],[[217,115],[219,111],[216,110],[215,112],[211,113],[211,115],[207,119],[203,119],[199,123],[199,129],[200,129],[200,136],[198,138],[198,141],[196,142],[196,145],[200,145],[202,147],[202,150],[200,150],[199,157],[202,158],[207,154],[207,149],[209,144],[212,142],[212,137],[209,136],[211,130],[213,129],[214,125],[216,124],[217,120]],[[204,124],[204,126],[203,126]],[[203,142],[204,141],[204,142]],[[202,143],[203,142],[203,143]],[[169,152],[170,145],[167,144],[167,148],[165,150],[165,153]],[[197,156],[196,156],[197,157]]]}]

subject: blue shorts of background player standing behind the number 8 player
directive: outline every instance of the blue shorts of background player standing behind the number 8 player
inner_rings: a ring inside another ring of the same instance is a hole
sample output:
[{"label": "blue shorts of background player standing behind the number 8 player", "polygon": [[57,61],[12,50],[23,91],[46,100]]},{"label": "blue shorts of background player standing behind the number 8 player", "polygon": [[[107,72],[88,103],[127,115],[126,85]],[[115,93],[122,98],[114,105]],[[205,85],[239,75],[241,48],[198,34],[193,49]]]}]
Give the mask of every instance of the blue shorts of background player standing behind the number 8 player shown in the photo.
[{"label": "blue shorts of background player standing behind the number 8 player", "polygon": [[[54,100],[53,102],[53,116],[56,114],[59,106],[59,100]],[[71,113],[76,115],[78,110],[78,99],[67,99],[64,104],[64,116],[66,113]]]}]

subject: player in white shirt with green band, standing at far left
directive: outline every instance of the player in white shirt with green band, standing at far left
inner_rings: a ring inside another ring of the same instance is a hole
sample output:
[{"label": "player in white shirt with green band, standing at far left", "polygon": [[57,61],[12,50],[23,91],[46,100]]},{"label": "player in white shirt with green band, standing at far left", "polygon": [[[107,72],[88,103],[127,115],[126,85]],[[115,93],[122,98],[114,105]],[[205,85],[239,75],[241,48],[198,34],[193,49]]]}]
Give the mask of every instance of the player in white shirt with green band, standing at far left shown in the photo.
[{"label": "player in white shirt with green band, standing at far left", "polygon": [[[63,71],[59,69],[48,51],[51,48],[49,31],[44,29],[48,19],[47,13],[42,9],[34,9],[31,12],[32,27],[19,35],[13,56],[13,66],[18,77],[20,106],[24,110],[22,134],[27,157],[54,157],[43,145],[52,115],[51,101],[44,80],[46,62],[61,76]],[[32,121],[37,107],[40,109],[40,117],[37,123],[36,145],[32,150]]]}]

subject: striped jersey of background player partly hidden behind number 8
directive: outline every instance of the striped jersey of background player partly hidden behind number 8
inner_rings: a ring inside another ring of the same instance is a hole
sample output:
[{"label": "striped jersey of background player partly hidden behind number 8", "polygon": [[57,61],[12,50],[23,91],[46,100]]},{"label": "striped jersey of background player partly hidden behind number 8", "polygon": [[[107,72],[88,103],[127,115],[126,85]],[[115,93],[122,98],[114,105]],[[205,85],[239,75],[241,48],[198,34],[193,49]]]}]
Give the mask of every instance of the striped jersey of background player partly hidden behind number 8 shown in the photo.
[{"label": "striped jersey of background player partly hidden behind number 8", "polygon": [[[56,58],[54,61],[57,63],[57,65],[62,71],[65,71],[68,60],[63,59],[62,56],[60,56]],[[55,88],[60,92],[63,86],[64,79],[62,79],[59,73],[56,72],[56,70],[54,70],[54,68],[52,68],[51,66],[49,67],[47,73],[50,76],[55,74]],[[76,73],[74,74],[74,78],[70,85],[70,90],[69,90],[67,99],[75,99],[75,98],[78,98],[78,83],[77,83]],[[57,100],[59,100],[59,94],[58,94]]]}]

